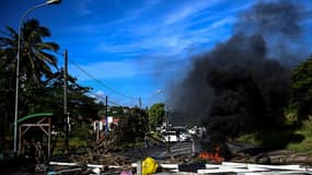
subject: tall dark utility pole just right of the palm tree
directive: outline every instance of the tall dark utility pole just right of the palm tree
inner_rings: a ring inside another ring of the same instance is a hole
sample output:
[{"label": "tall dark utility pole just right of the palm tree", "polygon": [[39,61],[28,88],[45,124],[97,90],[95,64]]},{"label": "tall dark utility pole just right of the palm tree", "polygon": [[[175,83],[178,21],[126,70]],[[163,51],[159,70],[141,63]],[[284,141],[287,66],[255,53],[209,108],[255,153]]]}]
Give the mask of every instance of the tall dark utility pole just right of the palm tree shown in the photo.
[{"label": "tall dark utility pole just right of the palm tree", "polygon": [[65,148],[66,152],[69,152],[69,113],[68,113],[68,100],[67,100],[67,94],[68,94],[68,83],[67,83],[67,78],[68,78],[68,51],[63,51],[63,118],[65,118]]}]

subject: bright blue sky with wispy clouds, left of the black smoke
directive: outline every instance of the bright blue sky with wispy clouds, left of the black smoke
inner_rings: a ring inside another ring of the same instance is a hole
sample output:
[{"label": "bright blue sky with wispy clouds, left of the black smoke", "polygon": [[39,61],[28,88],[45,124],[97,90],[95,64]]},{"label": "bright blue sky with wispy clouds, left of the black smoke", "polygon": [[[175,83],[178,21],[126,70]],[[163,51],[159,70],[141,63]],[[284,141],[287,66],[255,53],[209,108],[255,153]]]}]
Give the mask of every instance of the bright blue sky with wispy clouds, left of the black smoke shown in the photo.
[{"label": "bright blue sky with wispy clouds, left of the black smoke", "polygon": [[[1,31],[7,25],[18,28],[22,14],[43,2],[0,0]],[[60,52],[68,50],[69,73],[80,84],[119,105],[138,105],[141,97],[147,106],[165,102],[170,85],[183,79],[192,56],[229,38],[238,13],[255,2],[62,0],[33,11],[26,19],[38,19],[53,34],[46,40],[58,43]],[[62,67],[62,57],[58,59]]]}]

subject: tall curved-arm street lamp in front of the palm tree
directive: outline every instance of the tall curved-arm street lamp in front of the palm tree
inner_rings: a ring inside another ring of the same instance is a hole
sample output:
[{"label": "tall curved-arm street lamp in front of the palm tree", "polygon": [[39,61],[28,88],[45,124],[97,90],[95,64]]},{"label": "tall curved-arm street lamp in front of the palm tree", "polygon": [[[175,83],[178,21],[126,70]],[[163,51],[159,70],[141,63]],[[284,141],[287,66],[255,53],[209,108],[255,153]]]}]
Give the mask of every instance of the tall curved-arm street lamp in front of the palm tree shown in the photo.
[{"label": "tall curved-arm street lamp in front of the palm tree", "polygon": [[16,55],[16,86],[15,86],[15,106],[14,106],[14,153],[16,153],[18,148],[18,116],[19,116],[19,86],[20,86],[20,55],[21,55],[21,27],[23,21],[27,14],[30,14],[35,9],[46,7],[49,4],[58,4],[61,0],[48,0],[45,3],[41,3],[28,9],[21,18],[19,23],[19,40],[18,40],[18,55]]}]

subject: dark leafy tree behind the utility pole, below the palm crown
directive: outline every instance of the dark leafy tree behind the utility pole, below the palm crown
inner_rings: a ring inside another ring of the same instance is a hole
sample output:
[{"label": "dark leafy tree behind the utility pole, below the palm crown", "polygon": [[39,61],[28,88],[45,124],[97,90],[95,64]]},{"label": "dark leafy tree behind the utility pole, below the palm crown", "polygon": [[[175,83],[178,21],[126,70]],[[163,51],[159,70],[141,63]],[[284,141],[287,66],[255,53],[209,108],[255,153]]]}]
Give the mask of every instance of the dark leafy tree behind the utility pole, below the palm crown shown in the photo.
[{"label": "dark leafy tree behind the utility pole, below the palm crown", "polygon": [[[53,73],[50,78],[42,81],[39,85],[35,85],[34,81],[25,83],[25,92],[22,93],[21,100],[24,102],[21,105],[23,115],[34,113],[53,113],[51,122],[54,129],[60,131],[60,137],[56,140],[60,145],[56,150],[62,150],[62,142],[65,136],[65,117],[63,114],[63,72],[62,70]],[[70,117],[70,125],[72,132],[70,132],[69,140],[74,144],[80,145],[85,143],[86,136],[90,136],[88,126],[92,119],[97,119],[99,104],[93,97],[89,96],[90,88],[83,88],[77,84],[77,79],[68,75],[68,112]],[[80,132],[79,131],[80,128]],[[70,143],[72,143],[70,142]],[[78,145],[70,144],[70,149]]]}]

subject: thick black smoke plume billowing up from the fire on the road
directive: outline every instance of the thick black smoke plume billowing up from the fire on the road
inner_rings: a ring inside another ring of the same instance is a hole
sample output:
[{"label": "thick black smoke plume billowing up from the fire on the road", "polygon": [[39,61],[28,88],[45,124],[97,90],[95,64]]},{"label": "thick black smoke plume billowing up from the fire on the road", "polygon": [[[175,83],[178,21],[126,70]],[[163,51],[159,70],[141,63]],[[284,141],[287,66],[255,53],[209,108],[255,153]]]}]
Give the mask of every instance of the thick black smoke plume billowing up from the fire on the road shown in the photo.
[{"label": "thick black smoke plume billowing up from the fire on the road", "polygon": [[281,125],[289,68],[302,60],[297,50],[304,14],[287,0],[259,2],[241,13],[234,35],[194,58],[188,74],[173,88],[173,121],[206,125],[219,140]]}]

